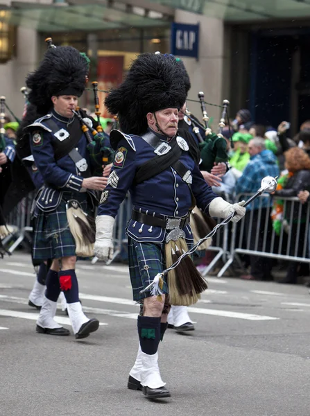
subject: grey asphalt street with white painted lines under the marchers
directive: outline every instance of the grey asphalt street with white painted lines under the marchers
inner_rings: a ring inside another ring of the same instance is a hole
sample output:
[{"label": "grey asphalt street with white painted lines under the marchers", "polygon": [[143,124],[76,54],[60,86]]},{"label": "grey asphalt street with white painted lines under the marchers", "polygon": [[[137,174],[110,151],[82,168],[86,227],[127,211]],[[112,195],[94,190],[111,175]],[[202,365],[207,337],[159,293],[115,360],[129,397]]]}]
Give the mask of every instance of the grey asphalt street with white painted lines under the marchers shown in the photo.
[{"label": "grey asphalt street with white painted lines under the marchers", "polygon": [[[29,254],[0,259],[0,415],[309,416],[310,295],[304,286],[209,277],[196,330],[160,344],[171,398],[127,389],[138,306],[127,266],[78,263],[80,300],[101,326],[85,340],[35,332]],[[56,320],[71,329],[58,309]]]}]

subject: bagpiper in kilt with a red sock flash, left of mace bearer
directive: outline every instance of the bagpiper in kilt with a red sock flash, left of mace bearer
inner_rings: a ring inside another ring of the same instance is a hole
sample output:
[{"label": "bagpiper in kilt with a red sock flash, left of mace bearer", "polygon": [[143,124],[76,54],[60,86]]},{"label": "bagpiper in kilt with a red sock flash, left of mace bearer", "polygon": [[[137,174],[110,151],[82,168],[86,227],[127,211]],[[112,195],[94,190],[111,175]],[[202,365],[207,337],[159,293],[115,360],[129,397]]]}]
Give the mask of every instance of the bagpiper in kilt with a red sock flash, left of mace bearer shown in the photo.
[{"label": "bagpiper in kilt with a red sock flash, left of mace bearer", "polygon": [[35,203],[33,258],[53,259],[46,276],[46,292],[36,330],[64,336],[67,329],[55,322],[56,302],[64,291],[76,338],[98,329],[98,320],[83,313],[78,299],[76,256],[92,255],[92,227],[96,195],[105,178],[92,176],[87,138],[72,110],[85,89],[88,64],[71,46],[46,51],[40,67],[31,73],[29,102],[46,114],[28,125],[31,153],[44,185]]}]

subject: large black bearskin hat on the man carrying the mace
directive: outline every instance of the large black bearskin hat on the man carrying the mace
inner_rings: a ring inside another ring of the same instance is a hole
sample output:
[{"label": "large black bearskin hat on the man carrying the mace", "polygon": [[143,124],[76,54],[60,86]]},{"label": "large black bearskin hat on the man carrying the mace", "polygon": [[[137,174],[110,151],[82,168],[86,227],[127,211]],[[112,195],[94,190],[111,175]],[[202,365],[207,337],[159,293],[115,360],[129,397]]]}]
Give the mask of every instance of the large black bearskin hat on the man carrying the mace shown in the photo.
[{"label": "large black bearskin hat on the man carrying the mace", "polygon": [[105,98],[107,110],[118,114],[126,134],[146,132],[146,114],[185,103],[182,69],[173,55],[143,53],[132,62],[126,80]]}]

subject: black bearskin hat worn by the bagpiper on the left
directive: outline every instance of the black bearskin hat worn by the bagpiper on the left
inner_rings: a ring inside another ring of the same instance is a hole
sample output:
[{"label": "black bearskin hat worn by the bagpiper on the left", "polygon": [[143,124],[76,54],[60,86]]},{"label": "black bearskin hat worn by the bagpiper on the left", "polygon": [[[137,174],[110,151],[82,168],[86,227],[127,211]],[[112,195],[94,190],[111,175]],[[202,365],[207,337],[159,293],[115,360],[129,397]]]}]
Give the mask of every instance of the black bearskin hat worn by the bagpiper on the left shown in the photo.
[{"label": "black bearskin hat worn by the bagpiper on the left", "polygon": [[72,46],[50,48],[36,71],[26,78],[31,89],[28,100],[37,111],[46,114],[52,107],[51,97],[74,95],[80,97],[86,86],[88,63]]}]

